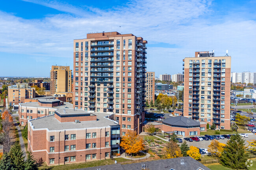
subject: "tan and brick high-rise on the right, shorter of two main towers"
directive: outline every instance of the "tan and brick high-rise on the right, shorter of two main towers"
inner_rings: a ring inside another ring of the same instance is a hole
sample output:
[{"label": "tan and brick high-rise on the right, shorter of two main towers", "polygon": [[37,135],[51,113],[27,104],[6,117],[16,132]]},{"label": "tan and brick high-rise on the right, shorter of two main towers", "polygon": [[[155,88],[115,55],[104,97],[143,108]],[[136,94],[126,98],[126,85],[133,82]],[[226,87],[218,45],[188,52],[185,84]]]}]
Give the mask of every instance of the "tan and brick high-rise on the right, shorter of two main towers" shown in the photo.
[{"label": "tan and brick high-rise on the right, shorter of two main towers", "polygon": [[184,116],[230,129],[231,57],[201,51],[183,61]]}]

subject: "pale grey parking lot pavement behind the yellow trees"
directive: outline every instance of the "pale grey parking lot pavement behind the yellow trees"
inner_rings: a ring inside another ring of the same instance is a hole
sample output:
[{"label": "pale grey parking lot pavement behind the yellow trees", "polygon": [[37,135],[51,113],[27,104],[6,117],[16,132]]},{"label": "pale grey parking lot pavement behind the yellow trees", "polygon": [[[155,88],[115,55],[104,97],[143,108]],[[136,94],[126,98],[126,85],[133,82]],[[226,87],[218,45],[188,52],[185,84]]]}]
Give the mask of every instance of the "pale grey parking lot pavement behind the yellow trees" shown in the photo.
[{"label": "pale grey parking lot pavement behind the yellow trees", "polygon": [[[254,133],[246,133],[246,134],[248,134],[248,137],[242,137],[243,139],[245,139],[245,145],[248,145],[249,143],[247,142],[247,141],[250,141],[250,140],[252,140],[252,139],[256,139],[256,135],[254,134]],[[182,139],[182,141],[184,141],[184,139],[183,138],[181,138]],[[228,141],[229,139],[219,139],[219,140],[217,140],[217,141],[219,141],[220,143],[224,143],[224,144],[226,144],[226,142]],[[189,142],[189,141],[186,141],[187,142],[187,144],[189,145],[189,146],[196,146],[196,147],[198,147],[198,148],[208,148],[208,146],[210,145],[210,143],[211,143],[211,140],[209,140],[209,141],[198,141],[198,142],[196,142],[196,141],[193,141],[193,142]],[[181,143],[178,143],[178,144],[181,144]]]}]

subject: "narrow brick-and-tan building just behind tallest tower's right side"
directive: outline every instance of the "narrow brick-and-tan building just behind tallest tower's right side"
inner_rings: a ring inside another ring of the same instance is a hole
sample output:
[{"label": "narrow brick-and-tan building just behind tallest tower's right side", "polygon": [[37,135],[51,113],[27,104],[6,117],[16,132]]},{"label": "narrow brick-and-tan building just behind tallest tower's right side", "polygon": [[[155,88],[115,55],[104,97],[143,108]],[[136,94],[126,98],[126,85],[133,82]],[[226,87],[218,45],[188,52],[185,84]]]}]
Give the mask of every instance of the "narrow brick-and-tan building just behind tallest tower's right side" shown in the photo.
[{"label": "narrow brick-and-tan building just behind tallest tower's right side", "polygon": [[150,101],[155,101],[155,72],[146,72],[146,97],[145,100],[150,103]]}]

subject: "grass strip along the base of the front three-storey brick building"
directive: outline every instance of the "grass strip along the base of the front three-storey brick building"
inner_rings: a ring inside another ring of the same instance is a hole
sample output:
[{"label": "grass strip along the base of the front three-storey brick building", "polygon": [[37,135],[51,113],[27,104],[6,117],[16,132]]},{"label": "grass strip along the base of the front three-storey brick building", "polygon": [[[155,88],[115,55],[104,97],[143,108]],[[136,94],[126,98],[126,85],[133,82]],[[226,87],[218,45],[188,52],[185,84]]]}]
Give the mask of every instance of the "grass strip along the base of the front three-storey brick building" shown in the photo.
[{"label": "grass strip along the base of the front three-storey brick building", "polygon": [[39,170],[72,170],[72,169],[79,169],[79,168],[88,168],[93,166],[102,166],[102,165],[111,165],[114,164],[114,161],[111,159],[106,159],[102,161],[90,161],[86,163],[73,163],[68,165],[59,165],[59,166],[47,166],[42,165],[39,167]]}]

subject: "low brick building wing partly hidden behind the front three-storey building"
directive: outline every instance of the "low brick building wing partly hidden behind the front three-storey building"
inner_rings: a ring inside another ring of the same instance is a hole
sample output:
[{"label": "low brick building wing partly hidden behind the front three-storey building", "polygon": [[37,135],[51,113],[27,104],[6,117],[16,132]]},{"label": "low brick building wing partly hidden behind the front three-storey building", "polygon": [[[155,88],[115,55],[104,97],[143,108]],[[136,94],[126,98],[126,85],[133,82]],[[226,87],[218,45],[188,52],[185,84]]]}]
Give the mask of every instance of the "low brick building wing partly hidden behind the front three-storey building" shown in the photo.
[{"label": "low brick building wing partly hidden behind the front three-storey building", "polygon": [[[29,99],[26,99],[29,100]],[[55,110],[61,108],[73,108],[73,105],[54,98],[31,99],[30,102],[19,103],[19,122],[26,126],[28,120],[54,114]]]}]

